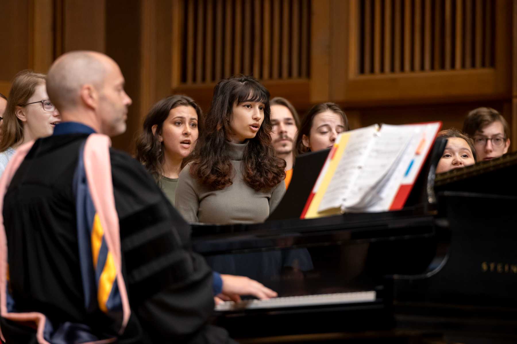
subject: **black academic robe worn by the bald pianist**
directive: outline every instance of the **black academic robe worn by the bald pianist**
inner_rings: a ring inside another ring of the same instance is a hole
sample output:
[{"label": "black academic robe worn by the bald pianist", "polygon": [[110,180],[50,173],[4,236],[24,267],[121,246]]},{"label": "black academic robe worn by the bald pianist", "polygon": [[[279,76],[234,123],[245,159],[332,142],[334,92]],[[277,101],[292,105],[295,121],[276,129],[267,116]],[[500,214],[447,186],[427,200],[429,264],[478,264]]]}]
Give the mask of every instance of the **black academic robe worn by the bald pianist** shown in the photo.
[{"label": "black academic robe worn by the bald pianist", "polygon": [[[85,134],[35,142],[4,198],[11,294],[19,312],[41,312],[56,328],[80,323],[105,338],[116,326],[86,309],[79,270],[72,180]],[[226,342],[207,324],[212,272],[190,251],[190,226],[139,162],[110,149],[131,317],[119,343]],[[7,343],[36,342],[31,327],[1,319]],[[73,339],[70,339],[72,342]]]}]

